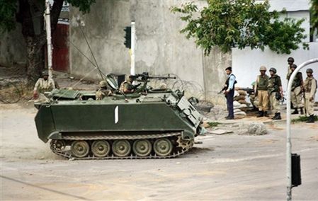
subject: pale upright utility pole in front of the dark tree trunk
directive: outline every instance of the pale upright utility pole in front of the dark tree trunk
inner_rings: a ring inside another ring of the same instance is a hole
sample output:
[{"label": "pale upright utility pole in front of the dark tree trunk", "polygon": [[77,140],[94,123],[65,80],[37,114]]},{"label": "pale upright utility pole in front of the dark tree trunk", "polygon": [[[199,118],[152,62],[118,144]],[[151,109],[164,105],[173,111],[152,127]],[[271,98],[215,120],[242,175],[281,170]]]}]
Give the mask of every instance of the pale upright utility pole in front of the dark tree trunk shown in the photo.
[{"label": "pale upright utility pole in front of the dark tree trunk", "polygon": [[51,17],[50,17],[50,0],[45,0],[45,30],[47,37],[47,69],[49,77],[52,79],[52,38],[51,38]]}]

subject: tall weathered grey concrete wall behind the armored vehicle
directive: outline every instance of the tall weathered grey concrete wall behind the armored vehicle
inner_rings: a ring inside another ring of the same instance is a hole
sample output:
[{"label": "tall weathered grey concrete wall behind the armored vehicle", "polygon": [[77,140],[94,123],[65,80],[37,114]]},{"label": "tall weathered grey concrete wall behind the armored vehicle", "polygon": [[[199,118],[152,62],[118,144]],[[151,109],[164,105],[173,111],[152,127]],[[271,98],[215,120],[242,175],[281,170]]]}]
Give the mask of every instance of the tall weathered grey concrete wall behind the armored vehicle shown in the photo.
[{"label": "tall weathered grey concrete wall behind the armored vehicle", "polygon": [[[188,1],[96,1],[91,13],[82,16],[76,8],[70,9],[70,40],[92,61],[79,24],[92,47],[98,65],[106,73],[130,73],[130,54],[125,48],[124,28],[130,21],[136,23],[136,73],[176,74],[181,80],[171,86],[191,91],[199,98],[215,96],[225,81],[225,67],[231,64],[229,54],[217,49],[210,56],[203,56],[193,40],[187,40],[179,31],[184,27],[178,15],[171,13],[171,6]],[[195,1],[200,7],[206,1]],[[100,79],[98,71],[75,47],[70,45],[71,73]]]}]

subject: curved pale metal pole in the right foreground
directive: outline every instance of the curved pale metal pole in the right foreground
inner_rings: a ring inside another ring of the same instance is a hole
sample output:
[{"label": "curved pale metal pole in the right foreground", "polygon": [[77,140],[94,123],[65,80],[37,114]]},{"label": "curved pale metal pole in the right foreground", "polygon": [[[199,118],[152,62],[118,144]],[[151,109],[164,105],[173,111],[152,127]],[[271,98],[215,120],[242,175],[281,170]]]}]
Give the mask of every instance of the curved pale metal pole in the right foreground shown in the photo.
[{"label": "curved pale metal pole in the right foreground", "polygon": [[292,200],[292,142],[290,139],[290,92],[292,89],[293,80],[297,72],[299,72],[303,67],[318,62],[318,58],[310,59],[307,62],[300,64],[299,67],[293,71],[293,74],[290,75],[290,81],[288,81],[288,88],[287,88],[287,112],[286,112],[286,176],[287,176],[287,200]]}]

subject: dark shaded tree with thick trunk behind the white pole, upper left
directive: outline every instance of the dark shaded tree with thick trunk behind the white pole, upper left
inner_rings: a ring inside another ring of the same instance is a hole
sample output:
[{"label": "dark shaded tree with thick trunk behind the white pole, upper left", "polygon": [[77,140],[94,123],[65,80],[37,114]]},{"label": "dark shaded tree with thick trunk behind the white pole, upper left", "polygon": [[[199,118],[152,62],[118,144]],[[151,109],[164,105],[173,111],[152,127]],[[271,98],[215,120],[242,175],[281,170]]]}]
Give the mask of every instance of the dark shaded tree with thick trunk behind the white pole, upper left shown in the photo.
[{"label": "dark shaded tree with thick trunk behind the white pole, upper left", "polygon": [[[82,13],[89,12],[91,4],[96,0],[67,0]],[[57,27],[59,13],[64,0],[54,0],[51,13],[52,33]],[[0,0],[0,30],[10,31],[16,28],[16,22],[22,25],[22,35],[27,49],[28,85],[32,86],[43,69],[43,47],[46,33],[43,28],[45,0]]]}]

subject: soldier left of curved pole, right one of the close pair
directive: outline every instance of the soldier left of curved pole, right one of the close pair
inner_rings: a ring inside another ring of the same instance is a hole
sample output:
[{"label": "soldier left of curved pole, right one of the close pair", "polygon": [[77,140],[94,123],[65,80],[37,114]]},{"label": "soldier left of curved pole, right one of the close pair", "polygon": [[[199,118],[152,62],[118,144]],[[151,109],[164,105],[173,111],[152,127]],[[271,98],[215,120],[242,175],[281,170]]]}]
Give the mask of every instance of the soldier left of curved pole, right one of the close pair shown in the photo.
[{"label": "soldier left of curved pole, right one of the close pair", "polygon": [[283,87],[280,76],[276,73],[275,68],[269,69],[271,77],[268,79],[268,95],[271,103],[271,111],[275,113],[272,120],[281,120],[279,100],[283,97]]}]

